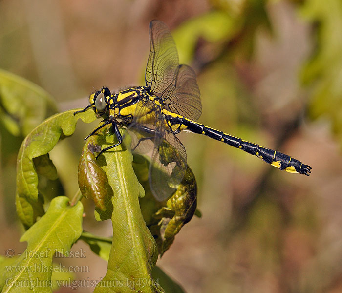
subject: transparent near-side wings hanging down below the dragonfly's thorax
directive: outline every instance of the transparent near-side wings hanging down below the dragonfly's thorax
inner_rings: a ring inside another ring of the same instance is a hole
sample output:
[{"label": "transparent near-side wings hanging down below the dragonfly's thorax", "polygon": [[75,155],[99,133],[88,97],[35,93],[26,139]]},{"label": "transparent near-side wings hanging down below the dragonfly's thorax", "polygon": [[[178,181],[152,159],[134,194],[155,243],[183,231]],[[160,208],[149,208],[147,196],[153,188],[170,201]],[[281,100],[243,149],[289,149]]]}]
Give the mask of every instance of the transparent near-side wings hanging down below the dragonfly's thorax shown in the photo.
[{"label": "transparent near-side wings hanging down below the dragonfly's thorax", "polygon": [[186,164],[186,151],[175,136],[160,109],[151,101],[140,101],[133,122],[133,151],[151,157],[149,182],[158,201],[170,197],[182,181]]}]

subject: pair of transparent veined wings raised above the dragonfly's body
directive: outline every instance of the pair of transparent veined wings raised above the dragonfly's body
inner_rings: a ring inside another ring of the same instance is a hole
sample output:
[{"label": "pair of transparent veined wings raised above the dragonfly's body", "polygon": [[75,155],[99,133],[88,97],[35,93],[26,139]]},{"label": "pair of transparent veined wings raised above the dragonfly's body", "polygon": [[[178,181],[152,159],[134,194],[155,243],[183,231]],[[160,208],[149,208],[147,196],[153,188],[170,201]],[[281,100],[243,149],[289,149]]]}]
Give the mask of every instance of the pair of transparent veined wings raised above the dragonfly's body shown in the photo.
[{"label": "pair of transparent veined wings raised above the dragonfly's body", "polygon": [[146,66],[146,85],[162,98],[171,112],[196,121],[202,105],[196,74],[191,67],[179,65],[176,45],[168,26],[150,22],[150,55]]}]

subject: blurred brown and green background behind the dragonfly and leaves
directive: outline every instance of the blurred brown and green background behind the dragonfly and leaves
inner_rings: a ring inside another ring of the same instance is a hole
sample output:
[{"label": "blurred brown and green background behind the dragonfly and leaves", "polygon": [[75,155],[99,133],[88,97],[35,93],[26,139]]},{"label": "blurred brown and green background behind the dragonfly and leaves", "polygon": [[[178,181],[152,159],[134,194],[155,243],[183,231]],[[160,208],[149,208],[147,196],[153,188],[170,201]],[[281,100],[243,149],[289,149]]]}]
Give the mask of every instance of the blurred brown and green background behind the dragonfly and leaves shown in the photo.
[{"label": "blurred brown and green background behind the dragonfly and leaves", "polygon": [[[0,68],[42,86],[61,111],[83,107],[94,88],[144,85],[152,19],[170,26],[180,62],[197,73],[201,123],[313,167],[309,177],[281,172],[181,134],[203,216],[157,264],[189,293],[342,292],[341,0],[2,0]],[[70,197],[91,129],[79,122],[73,141],[51,154]],[[2,255],[26,247],[15,216],[16,155],[7,160]],[[92,204],[83,203],[85,230],[110,236],[110,221],[95,223]],[[74,248],[87,252],[86,261],[65,262],[90,269],[75,280],[105,275],[105,261],[82,243]]]}]

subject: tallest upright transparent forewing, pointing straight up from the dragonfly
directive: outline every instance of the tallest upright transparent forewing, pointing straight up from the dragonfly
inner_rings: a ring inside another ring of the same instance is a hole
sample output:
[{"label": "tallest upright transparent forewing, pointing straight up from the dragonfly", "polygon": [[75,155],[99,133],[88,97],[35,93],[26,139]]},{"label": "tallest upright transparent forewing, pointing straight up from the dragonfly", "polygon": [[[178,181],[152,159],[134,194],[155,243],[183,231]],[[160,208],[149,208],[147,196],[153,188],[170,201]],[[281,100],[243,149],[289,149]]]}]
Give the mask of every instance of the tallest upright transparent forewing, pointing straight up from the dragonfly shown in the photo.
[{"label": "tallest upright transparent forewing, pointing straight up from the dragonfly", "polygon": [[150,22],[150,55],[146,66],[146,86],[160,97],[174,81],[179,65],[176,45],[168,26],[162,21]]}]

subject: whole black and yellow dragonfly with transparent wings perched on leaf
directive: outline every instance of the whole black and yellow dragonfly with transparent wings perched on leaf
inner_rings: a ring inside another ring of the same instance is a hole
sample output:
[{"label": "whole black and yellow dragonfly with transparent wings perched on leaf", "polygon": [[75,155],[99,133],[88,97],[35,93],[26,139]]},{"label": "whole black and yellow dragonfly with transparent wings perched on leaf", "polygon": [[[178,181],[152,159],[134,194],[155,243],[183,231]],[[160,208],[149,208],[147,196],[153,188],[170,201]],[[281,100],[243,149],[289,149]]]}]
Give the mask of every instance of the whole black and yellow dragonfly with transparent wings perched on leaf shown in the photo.
[{"label": "whole black and yellow dragonfly with transparent wings perched on leaf", "polygon": [[176,137],[182,130],[240,148],[280,170],[311,173],[310,166],[288,155],[196,122],[202,110],[196,75],[190,66],[179,64],[170,30],[161,21],[150,22],[150,55],[145,81],[145,86],[128,88],[116,94],[103,87],[90,95],[90,105],[74,115],[92,108],[104,119],[103,124],[85,140],[102,127],[112,125],[118,142],[102,149],[98,156],[121,144],[119,127],[123,126],[133,134],[133,151],[151,152],[149,182],[157,200],[163,201],[171,196],[186,173],[186,151]]}]

